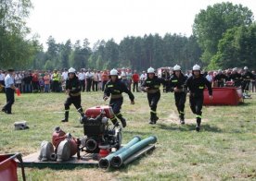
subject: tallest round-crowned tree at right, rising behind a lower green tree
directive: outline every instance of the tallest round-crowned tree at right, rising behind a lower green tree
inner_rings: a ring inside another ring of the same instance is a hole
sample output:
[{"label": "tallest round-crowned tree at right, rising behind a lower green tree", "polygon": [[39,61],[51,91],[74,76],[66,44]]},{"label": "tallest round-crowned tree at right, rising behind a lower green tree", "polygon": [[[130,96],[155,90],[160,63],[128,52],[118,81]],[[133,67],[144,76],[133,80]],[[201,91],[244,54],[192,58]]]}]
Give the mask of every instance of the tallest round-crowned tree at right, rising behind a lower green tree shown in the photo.
[{"label": "tallest round-crowned tree at right, rising behind a lower green tree", "polygon": [[226,30],[239,26],[249,26],[253,21],[248,7],[226,2],[208,6],[200,10],[194,20],[193,33],[203,51],[201,59],[209,64],[217,53],[218,43]]}]

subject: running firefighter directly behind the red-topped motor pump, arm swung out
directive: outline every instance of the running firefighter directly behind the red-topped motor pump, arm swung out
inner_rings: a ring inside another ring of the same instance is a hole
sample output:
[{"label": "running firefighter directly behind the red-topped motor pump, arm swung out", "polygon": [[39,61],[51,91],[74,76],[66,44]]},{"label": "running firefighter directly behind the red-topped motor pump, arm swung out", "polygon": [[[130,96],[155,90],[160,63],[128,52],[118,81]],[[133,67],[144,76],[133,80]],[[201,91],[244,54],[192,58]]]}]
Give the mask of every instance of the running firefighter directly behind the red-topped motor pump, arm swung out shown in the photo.
[{"label": "running firefighter directly behind the red-topped motor pump, arm swung out", "polygon": [[122,92],[129,95],[132,104],[134,104],[134,94],[128,90],[122,80],[118,78],[118,71],[116,69],[112,69],[109,76],[110,79],[106,83],[103,99],[104,101],[107,101],[110,97],[109,105],[112,107],[115,115],[111,118],[113,125],[119,127],[118,118],[122,123],[122,127],[126,127],[126,120],[120,113],[123,103]]}]

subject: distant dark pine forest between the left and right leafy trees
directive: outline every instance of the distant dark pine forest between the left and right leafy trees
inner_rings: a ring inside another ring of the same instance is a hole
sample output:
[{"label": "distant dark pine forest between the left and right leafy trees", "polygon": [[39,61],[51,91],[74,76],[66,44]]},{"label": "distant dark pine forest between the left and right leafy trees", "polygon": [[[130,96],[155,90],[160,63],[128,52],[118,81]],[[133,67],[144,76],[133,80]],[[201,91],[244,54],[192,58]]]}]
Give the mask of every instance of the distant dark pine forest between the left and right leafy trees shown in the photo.
[{"label": "distant dark pine forest between the left and right leafy trees", "polygon": [[73,66],[75,68],[110,69],[129,67],[143,70],[149,66],[174,66],[185,68],[199,62],[201,50],[195,37],[178,34],[149,34],[144,37],[125,37],[120,43],[113,39],[98,41],[90,48],[90,42],[68,40],[58,43],[50,36],[47,51],[41,51],[33,60],[32,68],[45,69]]}]

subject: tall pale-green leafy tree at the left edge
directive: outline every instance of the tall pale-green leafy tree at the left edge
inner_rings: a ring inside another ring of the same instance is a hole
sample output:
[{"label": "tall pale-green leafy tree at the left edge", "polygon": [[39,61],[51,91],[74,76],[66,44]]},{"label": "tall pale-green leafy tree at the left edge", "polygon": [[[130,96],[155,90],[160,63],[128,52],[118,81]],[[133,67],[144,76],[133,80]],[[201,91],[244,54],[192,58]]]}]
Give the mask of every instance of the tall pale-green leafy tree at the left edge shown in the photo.
[{"label": "tall pale-green leafy tree at the left edge", "polygon": [[26,27],[32,3],[30,0],[1,0],[0,3],[0,66],[21,68],[32,63],[35,43],[26,40]]}]

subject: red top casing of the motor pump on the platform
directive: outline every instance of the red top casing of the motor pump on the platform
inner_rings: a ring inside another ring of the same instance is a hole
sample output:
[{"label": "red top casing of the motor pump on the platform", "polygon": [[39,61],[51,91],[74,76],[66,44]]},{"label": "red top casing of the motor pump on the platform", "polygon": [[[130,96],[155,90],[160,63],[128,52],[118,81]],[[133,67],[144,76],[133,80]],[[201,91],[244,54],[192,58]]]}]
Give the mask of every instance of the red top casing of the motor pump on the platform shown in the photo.
[{"label": "red top casing of the motor pump on the platform", "polygon": [[87,117],[92,117],[92,118],[96,118],[97,115],[100,115],[100,113],[104,111],[105,115],[108,118],[112,118],[114,116],[112,107],[110,107],[109,105],[104,105],[104,106],[96,106],[96,107],[91,107],[86,109],[85,111],[85,115]]}]

